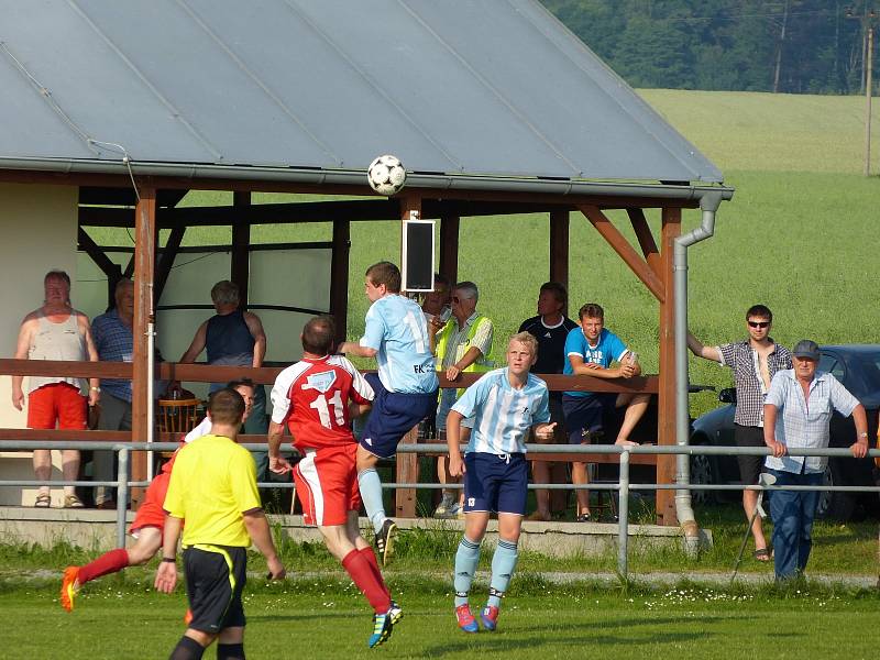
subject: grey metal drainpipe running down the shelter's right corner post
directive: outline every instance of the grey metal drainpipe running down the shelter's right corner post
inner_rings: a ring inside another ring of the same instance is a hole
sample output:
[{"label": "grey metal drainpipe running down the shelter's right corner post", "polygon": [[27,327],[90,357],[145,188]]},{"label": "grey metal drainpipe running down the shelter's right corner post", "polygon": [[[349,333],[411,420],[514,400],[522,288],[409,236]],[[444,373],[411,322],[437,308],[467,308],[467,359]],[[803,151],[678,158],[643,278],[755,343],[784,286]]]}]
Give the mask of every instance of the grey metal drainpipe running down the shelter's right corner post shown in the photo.
[{"label": "grey metal drainpipe running down the shelter's right corner post", "polygon": [[[672,256],[674,272],[675,304],[675,442],[679,447],[690,444],[690,416],[688,411],[688,248],[708,239],[715,233],[715,211],[718,210],[723,193],[711,193],[700,199],[703,223],[693,231],[675,239]],[[727,197],[729,199],[729,197]],[[675,483],[691,483],[691,459],[688,454],[675,455]],[[684,530],[684,552],[696,557],[700,549],[700,528],[691,506],[690,491],[675,491],[675,515]]]}]

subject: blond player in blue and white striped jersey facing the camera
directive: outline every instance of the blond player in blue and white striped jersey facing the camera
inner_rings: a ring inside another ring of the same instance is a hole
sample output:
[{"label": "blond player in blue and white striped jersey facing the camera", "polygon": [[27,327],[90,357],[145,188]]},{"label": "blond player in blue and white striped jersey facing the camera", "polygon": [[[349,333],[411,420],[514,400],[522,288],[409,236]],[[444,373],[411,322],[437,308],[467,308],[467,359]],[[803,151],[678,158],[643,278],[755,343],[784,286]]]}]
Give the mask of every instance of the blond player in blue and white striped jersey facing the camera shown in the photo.
[{"label": "blond player in blue and white striped jersey facing the camera", "polygon": [[[492,512],[498,514],[498,544],[492,559],[488,602],[480,613],[483,628],[494,630],[498,608],[519,557],[517,543],[526,513],[528,465],[526,439],[535,429],[540,439],[552,438],[549,393],[529,373],[538,358],[538,341],[519,332],[507,344],[507,367],[491,371],[471,385],[447,418],[449,473],[464,475],[464,536],[455,552],[455,618],[459,628],[476,632],[479,625],[468,601],[480,543]],[[461,421],[475,416],[471,440],[462,459]]]}]

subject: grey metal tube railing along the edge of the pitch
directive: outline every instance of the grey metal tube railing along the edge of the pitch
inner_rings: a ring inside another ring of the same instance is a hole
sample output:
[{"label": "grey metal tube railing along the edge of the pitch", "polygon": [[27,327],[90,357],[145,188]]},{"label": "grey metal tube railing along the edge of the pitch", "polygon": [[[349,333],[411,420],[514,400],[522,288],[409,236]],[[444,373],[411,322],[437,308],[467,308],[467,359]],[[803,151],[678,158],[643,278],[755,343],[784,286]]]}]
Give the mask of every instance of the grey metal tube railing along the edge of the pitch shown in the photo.
[{"label": "grey metal tube railing along the edge of the pitch", "polygon": [[[37,440],[2,440],[0,441],[0,452],[2,451],[31,451],[34,449],[78,449],[78,450],[109,450],[119,454],[119,473],[116,481],[53,481],[42,482],[34,480],[0,480],[0,487],[20,486],[38,487],[44,485],[54,486],[116,486],[117,488],[117,544],[125,547],[125,513],[128,510],[129,491],[131,487],[144,487],[148,482],[138,482],[129,480],[130,454],[132,451],[174,451],[179,447],[176,442],[87,442],[87,441],[37,441]],[[243,443],[242,447],[249,450],[265,450],[265,444]],[[617,572],[623,580],[628,575],[628,551],[629,551],[629,494],[632,491],[821,491],[821,492],[845,492],[845,493],[880,493],[880,486],[760,486],[740,484],[634,484],[629,480],[629,458],[632,454],[686,454],[686,455],[769,455],[770,450],[761,447],[681,447],[681,446],[637,446],[618,447],[615,444],[528,444],[529,453],[547,454],[619,454],[620,473],[616,483],[590,483],[583,485],[574,484],[529,484],[529,490],[588,490],[588,491],[616,491],[618,493],[618,527],[617,527]],[[419,443],[399,444],[398,453],[430,453],[446,452],[446,443]],[[827,448],[827,449],[795,449],[789,450],[789,455],[793,457],[826,457],[826,458],[853,458],[848,449]],[[871,458],[880,457],[880,450],[871,449],[868,452]],[[266,488],[290,488],[292,483],[267,482],[260,483],[260,487]],[[384,488],[461,488],[461,484],[428,484],[428,483],[385,483]]]}]

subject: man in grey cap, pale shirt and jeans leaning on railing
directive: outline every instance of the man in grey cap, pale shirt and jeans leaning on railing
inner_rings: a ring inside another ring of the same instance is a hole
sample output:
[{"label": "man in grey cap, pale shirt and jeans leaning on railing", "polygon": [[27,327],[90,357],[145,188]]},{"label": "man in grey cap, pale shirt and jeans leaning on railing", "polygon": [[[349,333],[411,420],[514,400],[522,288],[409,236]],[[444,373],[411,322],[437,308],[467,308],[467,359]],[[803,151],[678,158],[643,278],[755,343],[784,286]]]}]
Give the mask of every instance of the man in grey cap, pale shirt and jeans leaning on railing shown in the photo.
[{"label": "man in grey cap, pale shirt and jeans leaning on railing", "polygon": [[[828,460],[824,457],[791,457],[789,448],[828,447],[832,413],[853,416],[856,441],[853,455],[868,453],[868,420],[865,407],[837,378],[816,371],[820,351],[816,342],[801,340],[792,351],[794,369],[773,376],[763,405],[763,440],[773,455],[767,469],[778,486],[818,486]],[[773,552],[777,580],[802,574],[813,546],[813,518],[818,491],[774,491],[770,498],[773,519]]]}]

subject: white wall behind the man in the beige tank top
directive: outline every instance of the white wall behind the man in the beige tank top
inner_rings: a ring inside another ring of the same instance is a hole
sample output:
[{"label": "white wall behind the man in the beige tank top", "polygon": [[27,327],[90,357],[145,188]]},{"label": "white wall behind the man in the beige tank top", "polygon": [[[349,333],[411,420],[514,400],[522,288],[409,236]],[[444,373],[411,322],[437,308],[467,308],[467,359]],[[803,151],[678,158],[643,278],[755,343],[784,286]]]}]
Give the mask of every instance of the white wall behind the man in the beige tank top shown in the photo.
[{"label": "white wall behind the man in the beige tank top", "polygon": [[[61,268],[76,280],[77,197],[74,186],[0,184],[0,355],[12,358],[24,316],[43,301],[43,276]],[[76,288],[70,292],[76,307]],[[25,413],[12,407],[11,378],[0,375],[0,428],[24,428]],[[56,452],[57,453],[57,452]],[[0,454],[0,472],[11,463],[30,466],[29,454]],[[20,474],[19,470],[15,470]],[[10,479],[11,475],[3,474]],[[33,479],[33,472],[20,474]],[[57,475],[54,475],[57,479]],[[0,488],[8,504],[15,488]],[[26,494],[25,494],[26,495]],[[18,504],[18,492],[14,493]],[[26,497],[25,497],[26,499]]]}]

